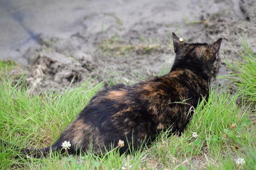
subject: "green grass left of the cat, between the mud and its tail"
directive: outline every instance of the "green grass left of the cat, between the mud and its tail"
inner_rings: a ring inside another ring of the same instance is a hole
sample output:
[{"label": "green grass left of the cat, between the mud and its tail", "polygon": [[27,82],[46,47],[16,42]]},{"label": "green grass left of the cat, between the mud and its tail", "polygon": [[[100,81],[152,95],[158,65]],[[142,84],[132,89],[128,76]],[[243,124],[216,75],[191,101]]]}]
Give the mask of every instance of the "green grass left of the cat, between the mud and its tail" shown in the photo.
[{"label": "green grass left of the cat, between the mud and its tail", "polygon": [[[22,83],[13,83],[13,80],[3,78],[0,82],[0,136],[27,148],[47,146],[56,140],[102,87],[102,83],[93,87],[88,81],[61,94],[49,92],[31,96]],[[6,153],[0,155],[1,158],[8,157]],[[15,163],[15,160],[1,159],[0,166]]]}]

